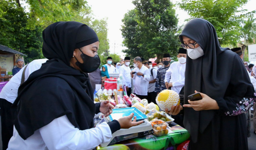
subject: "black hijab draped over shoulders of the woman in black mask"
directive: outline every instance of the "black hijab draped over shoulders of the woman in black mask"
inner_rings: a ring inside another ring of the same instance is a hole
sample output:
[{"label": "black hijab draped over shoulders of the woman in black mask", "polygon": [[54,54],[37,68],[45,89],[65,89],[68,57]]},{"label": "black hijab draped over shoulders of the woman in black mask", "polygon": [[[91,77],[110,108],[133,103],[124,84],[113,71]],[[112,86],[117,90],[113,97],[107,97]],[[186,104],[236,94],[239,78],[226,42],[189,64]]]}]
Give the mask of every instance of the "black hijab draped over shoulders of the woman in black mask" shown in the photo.
[{"label": "black hijab draped over shoulders of the woman in black mask", "polygon": [[97,41],[93,29],[75,21],[44,29],[42,52],[49,60],[20,85],[12,105],[14,125],[23,139],[64,115],[80,130],[93,127],[96,106],[88,74],[71,67],[70,59],[77,46]]}]

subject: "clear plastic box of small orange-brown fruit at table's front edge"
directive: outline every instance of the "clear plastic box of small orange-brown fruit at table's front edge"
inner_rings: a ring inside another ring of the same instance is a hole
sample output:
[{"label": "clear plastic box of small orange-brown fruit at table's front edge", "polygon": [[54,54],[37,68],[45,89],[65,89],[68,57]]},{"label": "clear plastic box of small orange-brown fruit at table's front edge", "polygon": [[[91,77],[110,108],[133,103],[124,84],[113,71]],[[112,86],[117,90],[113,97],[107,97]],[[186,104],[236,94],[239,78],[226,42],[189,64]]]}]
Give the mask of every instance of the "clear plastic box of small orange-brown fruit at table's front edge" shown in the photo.
[{"label": "clear plastic box of small orange-brown fruit at table's front edge", "polygon": [[[160,116],[161,116],[161,114],[160,114]],[[165,121],[157,119],[155,121],[151,121],[151,124],[152,124],[153,131],[154,131],[153,134],[155,136],[163,136],[163,135],[168,134],[169,125]]]}]

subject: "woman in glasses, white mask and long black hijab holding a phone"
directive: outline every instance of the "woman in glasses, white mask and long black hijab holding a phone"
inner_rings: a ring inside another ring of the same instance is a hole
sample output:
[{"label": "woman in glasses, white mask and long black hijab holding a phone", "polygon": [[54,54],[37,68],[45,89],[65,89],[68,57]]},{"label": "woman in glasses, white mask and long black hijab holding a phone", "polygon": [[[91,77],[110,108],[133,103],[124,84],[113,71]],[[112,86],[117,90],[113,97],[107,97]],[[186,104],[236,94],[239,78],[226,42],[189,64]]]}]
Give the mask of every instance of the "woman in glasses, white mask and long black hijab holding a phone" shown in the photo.
[{"label": "woman in glasses, white mask and long black hijab holding a phone", "polygon": [[[183,105],[183,123],[191,135],[188,149],[248,149],[244,112],[253,106],[255,91],[242,60],[219,45],[207,20],[191,19],[179,37],[188,55]],[[197,91],[203,99],[189,101],[188,95]]]}]

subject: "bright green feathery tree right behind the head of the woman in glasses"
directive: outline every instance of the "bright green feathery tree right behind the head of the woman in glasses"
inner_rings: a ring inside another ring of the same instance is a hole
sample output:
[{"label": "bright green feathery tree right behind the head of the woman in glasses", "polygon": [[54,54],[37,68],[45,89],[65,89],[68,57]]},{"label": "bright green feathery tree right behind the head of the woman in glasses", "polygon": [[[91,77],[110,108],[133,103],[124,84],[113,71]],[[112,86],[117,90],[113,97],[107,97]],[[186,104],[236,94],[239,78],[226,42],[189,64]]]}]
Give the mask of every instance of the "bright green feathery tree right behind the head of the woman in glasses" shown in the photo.
[{"label": "bright green feathery tree right behind the head of the woman in glasses", "polygon": [[[216,29],[219,43],[236,45],[242,18],[254,13],[244,13],[242,6],[248,0],[182,0],[179,3],[191,18],[208,20]],[[191,19],[190,18],[190,19]]]}]

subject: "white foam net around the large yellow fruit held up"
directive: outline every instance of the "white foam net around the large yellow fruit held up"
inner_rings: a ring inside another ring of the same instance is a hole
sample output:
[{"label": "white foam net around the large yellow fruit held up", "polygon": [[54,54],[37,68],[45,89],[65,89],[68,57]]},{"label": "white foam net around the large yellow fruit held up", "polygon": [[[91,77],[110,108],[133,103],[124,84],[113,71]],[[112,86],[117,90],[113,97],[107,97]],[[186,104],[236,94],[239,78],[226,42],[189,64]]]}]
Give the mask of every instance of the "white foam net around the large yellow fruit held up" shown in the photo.
[{"label": "white foam net around the large yellow fruit held up", "polygon": [[[166,89],[168,90],[168,89]],[[157,105],[162,109],[165,110],[165,108],[168,109],[168,111],[171,110],[171,107],[174,105],[176,106],[178,102],[180,101],[180,96],[178,93],[176,93],[173,90],[168,90],[169,95],[166,100],[162,100],[162,97],[166,96],[160,96],[161,93],[167,93],[166,90],[161,91],[157,96],[156,96],[156,103]]]}]

